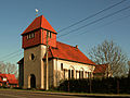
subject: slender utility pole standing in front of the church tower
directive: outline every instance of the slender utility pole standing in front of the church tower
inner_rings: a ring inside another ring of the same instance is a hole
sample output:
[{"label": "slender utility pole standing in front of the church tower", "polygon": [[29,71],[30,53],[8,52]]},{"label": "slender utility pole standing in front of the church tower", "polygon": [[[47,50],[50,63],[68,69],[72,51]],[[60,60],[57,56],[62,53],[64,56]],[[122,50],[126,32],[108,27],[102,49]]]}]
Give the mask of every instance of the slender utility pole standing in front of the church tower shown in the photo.
[{"label": "slender utility pole standing in front of the church tower", "polygon": [[48,42],[49,42],[49,40],[48,40],[48,37],[49,37],[49,32],[47,30],[47,48],[46,48],[46,50],[47,50],[47,84],[46,84],[46,89],[47,90],[49,90],[49,60],[48,60],[48,48],[49,48],[49,45],[48,45]]}]

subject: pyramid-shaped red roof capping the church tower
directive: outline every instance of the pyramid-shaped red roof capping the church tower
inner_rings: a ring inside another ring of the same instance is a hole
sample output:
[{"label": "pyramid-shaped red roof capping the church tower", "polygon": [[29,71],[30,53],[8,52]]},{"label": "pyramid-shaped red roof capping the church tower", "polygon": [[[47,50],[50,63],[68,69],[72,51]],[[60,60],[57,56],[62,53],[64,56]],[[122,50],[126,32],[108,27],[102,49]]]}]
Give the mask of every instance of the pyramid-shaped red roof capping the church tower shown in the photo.
[{"label": "pyramid-shaped red roof capping the church tower", "polygon": [[32,21],[32,23],[22,33],[22,35],[27,34],[38,28],[43,28],[43,29],[48,29],[53,33],[56,33],[54,28],[50,25],[50,23],[47,21],[47,19],[43,15],[41,15],[41,16],[36,17]]}]

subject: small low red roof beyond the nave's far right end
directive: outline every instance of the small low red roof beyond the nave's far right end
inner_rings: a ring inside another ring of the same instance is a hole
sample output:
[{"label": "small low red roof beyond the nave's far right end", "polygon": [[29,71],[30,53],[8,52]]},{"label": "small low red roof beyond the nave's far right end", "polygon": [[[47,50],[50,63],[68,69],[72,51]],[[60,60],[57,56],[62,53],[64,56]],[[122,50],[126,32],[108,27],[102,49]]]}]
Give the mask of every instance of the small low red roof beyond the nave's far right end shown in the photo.
[{"label": "small low red roof beyond the nave's far right end", "polygon": [[108,68],[108,64],[99,64],[95,65],[93,73],[105,73],[106,69]]}]

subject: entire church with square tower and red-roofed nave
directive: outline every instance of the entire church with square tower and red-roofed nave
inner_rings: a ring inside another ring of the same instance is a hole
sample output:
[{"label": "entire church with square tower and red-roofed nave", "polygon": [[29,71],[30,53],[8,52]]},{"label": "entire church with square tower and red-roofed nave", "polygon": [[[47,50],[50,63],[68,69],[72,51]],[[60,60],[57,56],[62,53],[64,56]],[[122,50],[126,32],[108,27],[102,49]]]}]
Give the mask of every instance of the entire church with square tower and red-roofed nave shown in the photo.
[{"label": "entire church with square tower and red-roofed nave", "polygon": [[93,76],[95,63],[78,46],[57,41],[57,34],[43,15],[22,33],[24,58],[18,61],[20,87],[48,90],[64,79]]}]

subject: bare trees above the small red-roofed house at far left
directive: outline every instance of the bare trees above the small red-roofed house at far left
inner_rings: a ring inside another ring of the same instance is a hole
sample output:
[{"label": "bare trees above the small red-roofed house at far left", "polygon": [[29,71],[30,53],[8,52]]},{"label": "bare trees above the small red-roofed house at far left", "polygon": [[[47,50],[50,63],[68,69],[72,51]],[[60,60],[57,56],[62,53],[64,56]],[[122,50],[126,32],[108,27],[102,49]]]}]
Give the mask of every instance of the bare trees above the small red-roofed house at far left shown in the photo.
[{"label": "bare trees above the small red-roofed house at far left", "polygon": [[11,63],[3,63],[0,61],[0,72],[4,74],[14,74],[17,77],[17,66]]}]

